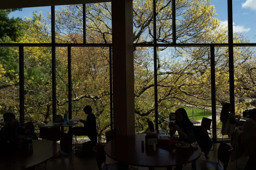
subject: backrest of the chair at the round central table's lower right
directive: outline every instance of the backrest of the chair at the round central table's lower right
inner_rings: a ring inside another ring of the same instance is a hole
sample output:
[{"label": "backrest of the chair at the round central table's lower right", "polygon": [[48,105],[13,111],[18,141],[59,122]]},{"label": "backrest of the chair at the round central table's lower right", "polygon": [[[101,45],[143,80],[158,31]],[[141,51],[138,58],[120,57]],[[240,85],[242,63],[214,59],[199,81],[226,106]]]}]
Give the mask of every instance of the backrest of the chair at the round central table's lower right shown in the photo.
[{"label": "backrest of the chair at the round central table's lower right", "polygon": [[225,142],[221,142],[218,148],[218,161],[221,161],[223,163],[224,170],[226,170],[228,167],[228,162],[232,149],[233,148]]}]

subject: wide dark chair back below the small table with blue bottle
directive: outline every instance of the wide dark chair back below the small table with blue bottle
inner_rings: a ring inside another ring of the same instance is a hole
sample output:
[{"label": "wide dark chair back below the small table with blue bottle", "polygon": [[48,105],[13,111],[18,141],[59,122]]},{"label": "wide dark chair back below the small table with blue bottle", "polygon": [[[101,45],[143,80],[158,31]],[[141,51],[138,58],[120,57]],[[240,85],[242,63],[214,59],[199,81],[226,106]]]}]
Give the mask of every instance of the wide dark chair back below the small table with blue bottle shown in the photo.
[{"label": "wide dark chair back below the small table with blue bottle", "polygon": [[55,126],[52,128],[39,128],[39,138],[51,140],[51,141],[59,141],[61,138],[60,126]]}]

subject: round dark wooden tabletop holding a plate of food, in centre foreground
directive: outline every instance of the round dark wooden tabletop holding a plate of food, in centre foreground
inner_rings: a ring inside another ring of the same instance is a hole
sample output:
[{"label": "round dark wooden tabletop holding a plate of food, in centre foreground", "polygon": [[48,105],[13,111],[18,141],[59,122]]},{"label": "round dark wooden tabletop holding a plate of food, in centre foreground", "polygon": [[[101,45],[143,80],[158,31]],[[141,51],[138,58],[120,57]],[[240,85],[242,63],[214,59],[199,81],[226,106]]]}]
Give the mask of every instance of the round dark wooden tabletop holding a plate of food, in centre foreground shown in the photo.
[{"label": "round dark wooden tabletop holding a plate of food, in centre foreground", "polygon": [[142,167],[172,167],[184,165],[198,159],[201,148],[180,148],[175,145],[166,147],[156,146],[141,148],[141,141],[145,143],[146,134],[128,135],[109,141],[105,145],[106,154],[121,163]]}]

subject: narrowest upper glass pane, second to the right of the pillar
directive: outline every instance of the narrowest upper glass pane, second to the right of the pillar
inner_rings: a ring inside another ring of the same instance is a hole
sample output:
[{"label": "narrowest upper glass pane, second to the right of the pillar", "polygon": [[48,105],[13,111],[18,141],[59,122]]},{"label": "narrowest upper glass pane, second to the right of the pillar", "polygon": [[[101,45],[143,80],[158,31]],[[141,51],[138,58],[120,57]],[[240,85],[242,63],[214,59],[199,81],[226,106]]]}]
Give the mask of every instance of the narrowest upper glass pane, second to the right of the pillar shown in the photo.
[{"label": "narrowest upper glass pane, second to the right of the pillar", "polygon": [[172,1],[156,2],[156,37],[159,43],[172,43]]}]

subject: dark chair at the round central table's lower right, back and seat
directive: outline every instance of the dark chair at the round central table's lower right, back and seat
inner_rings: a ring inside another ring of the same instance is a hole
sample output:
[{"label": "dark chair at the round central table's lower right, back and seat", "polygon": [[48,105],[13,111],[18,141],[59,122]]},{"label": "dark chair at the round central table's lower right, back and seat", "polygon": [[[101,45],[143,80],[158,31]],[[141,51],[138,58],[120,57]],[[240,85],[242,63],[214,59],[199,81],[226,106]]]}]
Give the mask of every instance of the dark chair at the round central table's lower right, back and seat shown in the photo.
[{"label": "dark chair at the round central table's lower right, back and seat", "polygon": [[[196,160],[196,170],[226,170],[230,159],[232,147],[221,142],[218,148],[218,162]],[[219,163],[222,162],[223,166]]]}]

